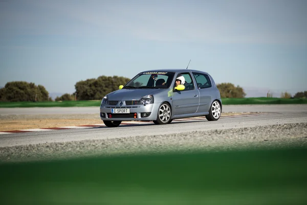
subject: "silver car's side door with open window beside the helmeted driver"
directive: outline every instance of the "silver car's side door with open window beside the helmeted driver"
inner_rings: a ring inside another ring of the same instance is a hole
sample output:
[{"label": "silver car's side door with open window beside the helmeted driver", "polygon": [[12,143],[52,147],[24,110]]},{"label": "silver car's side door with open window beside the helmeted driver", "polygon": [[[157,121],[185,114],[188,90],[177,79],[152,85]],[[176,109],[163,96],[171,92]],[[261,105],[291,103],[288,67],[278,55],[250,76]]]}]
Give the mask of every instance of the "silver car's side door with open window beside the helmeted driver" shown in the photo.
[{"label": "silver car's side door with open window beside the helmeted driver", "polygon": [[[185,78],[185,90],[173,92],[172,110],[173,115],[195,113],[199,107],[200,94],[198,89],[195,89],[194,82],[190,73],[180,73],[178,76]],[[177,77],[178,77],[177,76]]]}]

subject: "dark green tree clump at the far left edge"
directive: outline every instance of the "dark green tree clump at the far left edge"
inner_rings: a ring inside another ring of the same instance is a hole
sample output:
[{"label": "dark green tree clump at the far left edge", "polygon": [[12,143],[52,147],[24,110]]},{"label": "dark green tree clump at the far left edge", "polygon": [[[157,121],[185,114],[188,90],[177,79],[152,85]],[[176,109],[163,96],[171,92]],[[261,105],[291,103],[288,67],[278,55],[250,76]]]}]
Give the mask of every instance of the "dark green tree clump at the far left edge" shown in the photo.
[{"label": "dark green tree clump at the far left edge", "polygon": [[0,101],[49,101],[45,87],[26,81],[8,82],[0,89]]}]

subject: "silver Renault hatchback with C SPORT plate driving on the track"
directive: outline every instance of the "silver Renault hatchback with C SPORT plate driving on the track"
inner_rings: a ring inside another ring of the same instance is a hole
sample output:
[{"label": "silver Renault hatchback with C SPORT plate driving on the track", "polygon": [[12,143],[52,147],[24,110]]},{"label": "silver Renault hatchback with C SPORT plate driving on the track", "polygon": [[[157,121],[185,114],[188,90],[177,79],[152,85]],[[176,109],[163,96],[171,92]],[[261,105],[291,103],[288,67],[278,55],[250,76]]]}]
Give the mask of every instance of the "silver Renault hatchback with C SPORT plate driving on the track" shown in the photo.
[{"label": "silver Renault hatchback with C SPORT plate driving on the track", "polygon": [[153,121],[206,116],[218,120],[222,100],[213,78],[198,70],[143,71],[101,100],[100,117],[107,127],[122,121]]}]

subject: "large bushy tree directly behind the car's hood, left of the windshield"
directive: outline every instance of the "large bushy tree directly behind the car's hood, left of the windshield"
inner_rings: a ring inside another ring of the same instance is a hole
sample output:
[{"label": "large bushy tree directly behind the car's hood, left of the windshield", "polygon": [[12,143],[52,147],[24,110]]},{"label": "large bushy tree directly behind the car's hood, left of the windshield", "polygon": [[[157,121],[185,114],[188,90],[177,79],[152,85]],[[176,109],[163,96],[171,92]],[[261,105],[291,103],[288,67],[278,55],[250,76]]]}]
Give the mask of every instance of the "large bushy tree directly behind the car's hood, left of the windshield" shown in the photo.
[{"label": "large bushy tree directly behind the car's hood, left of the windshield", "polygon": [[130,79],[119,76],[99,76],[78,81],[75,85],[77,100],[102,99],[107,93],[118,90],[120,85],[125,85]]}]

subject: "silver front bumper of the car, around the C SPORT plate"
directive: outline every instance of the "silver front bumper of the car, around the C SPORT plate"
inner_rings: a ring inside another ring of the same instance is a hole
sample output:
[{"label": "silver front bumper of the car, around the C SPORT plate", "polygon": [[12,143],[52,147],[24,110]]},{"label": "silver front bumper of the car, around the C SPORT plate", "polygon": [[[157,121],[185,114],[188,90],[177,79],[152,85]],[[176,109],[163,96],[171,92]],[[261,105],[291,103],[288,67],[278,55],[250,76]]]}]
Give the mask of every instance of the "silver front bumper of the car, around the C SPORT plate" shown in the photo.
[{"label": "silver front bumper of the car, around the C SPORT plate", "polygon": [[[147,104],[147,105],[135,105],[126,107],[116,107],[109,105],[100,106],[100,118],[102,120],[120,120],[120,121],[151,121],[157,120],[157,113],[160,104]],[[130,114],[112,114],[111,109],[113,108],[127,108],[130,109]],[[135,115],[136,113],[136,115]],[[147,113],[144,117],[141,114]],[[110,115],[111,114],[111,115]],[[136,117],[135,117],[136,116]]]}]

